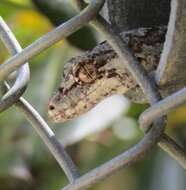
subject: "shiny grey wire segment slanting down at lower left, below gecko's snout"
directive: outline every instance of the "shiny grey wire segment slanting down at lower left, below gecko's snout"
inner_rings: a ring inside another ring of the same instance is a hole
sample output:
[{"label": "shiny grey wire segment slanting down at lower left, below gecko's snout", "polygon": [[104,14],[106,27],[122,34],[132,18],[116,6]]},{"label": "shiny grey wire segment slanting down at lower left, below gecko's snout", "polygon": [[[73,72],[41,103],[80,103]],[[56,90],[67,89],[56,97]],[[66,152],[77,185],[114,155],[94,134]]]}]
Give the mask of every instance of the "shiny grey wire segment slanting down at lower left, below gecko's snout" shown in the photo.
[{"label": "shiny grey wire segment slanting down at lower left, below gecko's snout", "polygon": [[51,153],[58,161],[61,168],[64,170],[69,181],[73,183],[79,176],[79,172],[71,160],[70,156],[65,151],[63,145],[56,138],[53,131],[47,125],[45,120],[38,112],[23,98],[20,98],[16,106],[25,114],[28,121],[32,124],[45,144],[48,146]]}]

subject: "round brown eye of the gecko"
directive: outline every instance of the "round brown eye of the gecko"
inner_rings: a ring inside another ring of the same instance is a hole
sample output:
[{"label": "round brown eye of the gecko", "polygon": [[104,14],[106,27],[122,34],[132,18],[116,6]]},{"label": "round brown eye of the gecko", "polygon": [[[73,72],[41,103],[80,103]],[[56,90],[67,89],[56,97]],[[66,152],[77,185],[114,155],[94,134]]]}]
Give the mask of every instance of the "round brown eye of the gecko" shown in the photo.
[{"label": "round brown eye of the gecko", "polygon": [[91,83],[96,79],[96,68],[93,64],[82,65],[76,73],[76,77],[81,82]]}]

